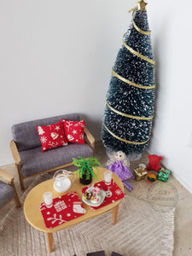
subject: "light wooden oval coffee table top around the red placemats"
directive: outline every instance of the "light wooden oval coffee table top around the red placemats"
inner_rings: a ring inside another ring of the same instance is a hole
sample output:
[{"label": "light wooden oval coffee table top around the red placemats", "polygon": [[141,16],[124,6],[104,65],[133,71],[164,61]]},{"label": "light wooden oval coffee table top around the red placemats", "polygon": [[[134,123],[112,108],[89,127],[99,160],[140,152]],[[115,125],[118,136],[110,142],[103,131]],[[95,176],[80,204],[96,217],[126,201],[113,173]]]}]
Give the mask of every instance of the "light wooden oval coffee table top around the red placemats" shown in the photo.
[{"label": "light wooden oval coffee table top around the red placemats", "polygon": [[[99,167],[99,174],[97,175],[98,181],[102,181],[104,179],[104,171],[106,171],[105,168]],[[113,181],[119,186],[119,188],[124,191],[124,186],[119,177],[113,173]],[[36,187],[34,187],[29,194],[26,196],[26,200],[24,202],[24,213],[26,216],[26,220],[29,224],[31,224],[35,229],[52,233],[58,230],[66,229],[72,225],[79,224],[80,222],[83,222],[84,220],[87,220],[89,218],[94,218],[98,215],[101,215],[104,212],[108,212],[109,210],[113,209],[113,207],[116,207],[120,201],[115,201],[111,204],[109,204],[106,207],[102,207],[100,209],[97,209],[96,211],[91,210],[88,205],[86,205],[83,202],[84,208],[86,210],[86,213],[83,216],[80,216],[79,218],[74,218],[73,220],[70,220],[69,222],[65,224],[61,224],[56,226],[55,228],[49,230],[46,228],[44,224],[44,218],[42,216],[41,211],[39,210],[39,205],[44,201],[43,194],[46,191],[51,191],[53,193],[53,198],[56,198],[58,196],[67,194],[70,191],[76,191],[79,195],[79,198],[82,199],[82,192],[81,190],[86,187],[87,185],[82,185],[79,182],[79,176],[75,176],[74,182],[70,189],[68,189],[65,193],[58,193],[55,191],[53,184],[55,179],[51,178],[43,183],[39,183]],[[96,183],[96,180],[94,180],[92,183]]]}]

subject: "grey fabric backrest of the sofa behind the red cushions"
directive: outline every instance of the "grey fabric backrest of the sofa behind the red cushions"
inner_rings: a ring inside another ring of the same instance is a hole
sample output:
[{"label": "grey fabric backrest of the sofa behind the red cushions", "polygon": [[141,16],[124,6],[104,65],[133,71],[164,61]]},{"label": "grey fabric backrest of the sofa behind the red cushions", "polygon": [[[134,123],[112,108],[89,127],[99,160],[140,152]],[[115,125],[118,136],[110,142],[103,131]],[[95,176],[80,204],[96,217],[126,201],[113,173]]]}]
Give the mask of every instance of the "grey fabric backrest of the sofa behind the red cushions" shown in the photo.
[{"label": "grey fabric backrest of the sofa behind the red cushions", "polygon": [[36,126],[52,125],[67,119],[72,121],[79,121],[78,113],[63,114],[46,119],[38,119],[25,123],[20,123],[12,126],[12,136],[19,151],[37,148],[41,146],[41,141],[38,136]]}]

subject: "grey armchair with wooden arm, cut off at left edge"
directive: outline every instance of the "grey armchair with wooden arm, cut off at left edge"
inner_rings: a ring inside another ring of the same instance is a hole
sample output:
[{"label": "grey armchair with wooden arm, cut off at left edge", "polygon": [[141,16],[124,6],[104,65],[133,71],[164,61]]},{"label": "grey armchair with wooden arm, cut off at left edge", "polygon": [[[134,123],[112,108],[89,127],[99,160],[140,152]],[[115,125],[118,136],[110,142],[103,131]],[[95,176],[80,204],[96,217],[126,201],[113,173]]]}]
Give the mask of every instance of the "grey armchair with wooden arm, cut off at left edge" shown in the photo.
[{"label": "grey armchair with wooden arm, cut off at left edge", "polygon": [[0,169],[0,209],[9,201],[15,199],[16,207],[20,207],[20,199],[15,189],[14,177],[3,169]]}]

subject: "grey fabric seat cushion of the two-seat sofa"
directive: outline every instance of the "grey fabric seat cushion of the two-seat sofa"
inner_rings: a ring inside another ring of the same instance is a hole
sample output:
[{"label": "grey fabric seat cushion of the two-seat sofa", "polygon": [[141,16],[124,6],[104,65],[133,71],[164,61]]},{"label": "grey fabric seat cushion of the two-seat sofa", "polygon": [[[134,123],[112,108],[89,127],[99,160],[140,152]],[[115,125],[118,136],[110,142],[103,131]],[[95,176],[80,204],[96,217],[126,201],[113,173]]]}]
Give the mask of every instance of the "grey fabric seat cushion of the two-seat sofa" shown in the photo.
[{"label": "grey fabric seat cushion of the two-seat sofa", "polygon": [[65,147],[52,148],[42,152],[42,148],[31,148],[20,151],[21,172],[24,177],[48,171],[57,166],[66,165],[73,158],[90,157],[93,154],[88,144],[69,143]]}]

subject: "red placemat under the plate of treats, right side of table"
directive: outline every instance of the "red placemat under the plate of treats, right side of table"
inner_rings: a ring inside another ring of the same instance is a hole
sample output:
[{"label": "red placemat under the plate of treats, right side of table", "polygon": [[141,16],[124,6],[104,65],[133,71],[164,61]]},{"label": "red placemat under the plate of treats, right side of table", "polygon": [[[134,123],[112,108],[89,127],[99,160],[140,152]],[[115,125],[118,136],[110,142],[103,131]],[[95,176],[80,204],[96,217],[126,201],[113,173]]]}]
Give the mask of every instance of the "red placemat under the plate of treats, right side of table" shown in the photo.
[{"label": "red placemat under the plate of treats, right side of table", "polygon": [[[99,207],[90,207],[92,210],[97,210],[97,209],[100,209],[102,207],[106,207],[106,206],[108,206],[108,204],[111,204],[114,201],[118,201],[119,199],[124,198],[123,191],[113,181],[113,179],[112,179],[111,184],[109,186],[106,185],[104,181],[101,181],[101,182],[95,183],[94,187],[98,187],[98,188],[104,190],[105,193],[106,193],[106,196],[105,196],[104,201],[102,202],[102,204]],[[82,189],[82,193],[84,193],[84,191],[88,188],[89,187],[85,187],[84,189]]]}]

